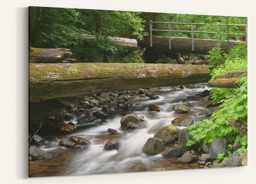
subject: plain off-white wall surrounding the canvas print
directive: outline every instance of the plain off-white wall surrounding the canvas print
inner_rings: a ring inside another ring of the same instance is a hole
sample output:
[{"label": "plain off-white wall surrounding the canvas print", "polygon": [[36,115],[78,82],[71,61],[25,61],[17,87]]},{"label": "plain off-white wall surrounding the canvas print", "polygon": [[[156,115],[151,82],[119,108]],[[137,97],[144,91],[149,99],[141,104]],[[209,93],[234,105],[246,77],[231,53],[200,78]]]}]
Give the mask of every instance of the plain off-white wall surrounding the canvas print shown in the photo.
[{"label": "plain off-white wall surrounding the canvas print", "polygon": [[[255,6],[224,0],[4,0],[1,2],[1,183],[252,183],[255,170]],[[246,16],[249,46],[249,166],[220,169],[28,178],[28,6]],[[253,35],[254,34],[254,35]],[[254,56],[254,57],[253,57]]]}]

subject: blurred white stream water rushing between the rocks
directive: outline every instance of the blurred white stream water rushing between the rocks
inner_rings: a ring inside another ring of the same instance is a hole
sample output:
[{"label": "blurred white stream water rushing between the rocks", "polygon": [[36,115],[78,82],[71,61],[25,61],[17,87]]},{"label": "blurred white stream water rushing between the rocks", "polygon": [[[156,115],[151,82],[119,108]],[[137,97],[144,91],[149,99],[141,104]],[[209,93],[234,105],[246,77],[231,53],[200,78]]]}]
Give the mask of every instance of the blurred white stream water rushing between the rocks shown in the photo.
[{"label": "blurred white stream water rushing between the rocks", "polygon": [[[209,108],[202,107],[209,101],[201,100],[202,97],[188,98],[195,94],[210,90],[207,84],[198,84],[200,88],[183,89],[181,91],[158,90],[150,88],[160,98],[150,100],[146,98],[129,99],[133,109],[127,114],[135,114],[146,122],[140,122],[144,128],[129,131],[120,130],[120,120],[123,115],[116,114],[105,123],[98,125],[98,121],[86,125],[76,125],[77,131],[58,137],[44,137],[50,141],[49,145],[41,146],[52,155],[48,160],[30,161],[30,176],[58,176],[81,175],[96,173],[122,173],[134,171],[155,171],[170,169],[199,168],[197,164],[180,164],[177,158],[165,158],[161,154],[148,156],[142,148],[146,140],[163,126],[170,125],[176,117],[191,117],[195,121],[206,119],[205,113]],[[177,114],[172,111],[175,104],[191,103],[191,114]],[[148,111],[148,105],[155,104],[161,111]],[[91,109],[92,111],[101,108]],[[68,122],[67,122],[68,123]],[[117,133],[108,133],[107,129],[117,130]],[[177,126],[178,130],[186,127]],[[78,136],[90,140],[91,145],[80,148],[65,148],[58,145],[60,137]],[[103,150],[108,140],[117,139],[120,142],[118,150]],[[169,145],[171,146],[171,145]]]}]

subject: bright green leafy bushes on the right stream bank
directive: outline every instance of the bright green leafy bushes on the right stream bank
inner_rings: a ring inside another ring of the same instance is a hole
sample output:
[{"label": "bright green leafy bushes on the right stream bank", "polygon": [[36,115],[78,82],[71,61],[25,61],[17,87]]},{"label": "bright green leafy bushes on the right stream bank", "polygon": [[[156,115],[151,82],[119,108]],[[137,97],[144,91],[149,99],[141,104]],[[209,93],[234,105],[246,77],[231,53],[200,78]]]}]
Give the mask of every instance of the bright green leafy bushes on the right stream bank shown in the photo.
[{"label": "bright green leafy bushes on the right stream bank", "polygon": [[222,101],[223,108],[215,111],[210,120],[198,121],[187,128],[193,138],[187,146],[202,141],[210,143],[214,138],[226,138],[230,144],[240,142],[242,147],[238,152],[247,152],[247,137],[242,136],[227,121],[227,119],[236,119],[247,122],[247,79],[242,76],[238,84],[241,87],[234,89],[233,97]]}]

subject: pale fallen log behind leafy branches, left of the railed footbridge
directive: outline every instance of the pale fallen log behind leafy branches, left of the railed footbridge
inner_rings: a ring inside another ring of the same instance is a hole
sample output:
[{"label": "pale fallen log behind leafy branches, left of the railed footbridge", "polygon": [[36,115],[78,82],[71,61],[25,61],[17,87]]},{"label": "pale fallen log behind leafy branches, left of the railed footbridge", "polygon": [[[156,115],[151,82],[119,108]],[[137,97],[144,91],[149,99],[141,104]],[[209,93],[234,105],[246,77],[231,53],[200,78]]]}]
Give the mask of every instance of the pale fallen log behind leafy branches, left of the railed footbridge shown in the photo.
[{"label": "pale fallen log behind leafy branches, left of the railed footbridge", "polygon": [[[88,36],[88,35],[81,34],[81,36],[83,41],[85,42],[98,39],[97,36],[95,35]],[[102,36],[101,39],[105,39],[105,37]],[[136,39],[119,38],[119,37],[112,37],[112,36],[107,36],[107,39],[110,42],[110,44],[119,45],[130,51],[136,51],[138,48],[138,42]]]}]

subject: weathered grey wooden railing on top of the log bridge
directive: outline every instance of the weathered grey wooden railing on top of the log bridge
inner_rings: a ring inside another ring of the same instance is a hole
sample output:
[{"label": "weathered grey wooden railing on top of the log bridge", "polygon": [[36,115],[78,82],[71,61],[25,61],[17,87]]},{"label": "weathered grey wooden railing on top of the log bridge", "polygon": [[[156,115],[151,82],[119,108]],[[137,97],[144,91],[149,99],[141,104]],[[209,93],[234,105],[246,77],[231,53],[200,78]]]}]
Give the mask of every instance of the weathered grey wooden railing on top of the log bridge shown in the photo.
[{"label": "weathered grey wooden railing on top of the log bridge", "polygon": [[[168,29],[152,29],[152,24],[168,24]],[[171,24],[183,24],[183,25],[191,25],[190,31],[185,30],[171,30]],[[217,32],[210,32],[210,31],[194,31],[193,25],[214,25],[217,26]],[[244,33],[220,33],[219,27],[220,26],[241,26],[245,27],[245,34]],[[206,34],[217,34],[218,44],[220,42],[219,35],[220,34],[231,34],[231,35],[245,35],[245,41],[247,41],[247,24],[203,24],[203,23],[177,23],[177,22],[149,22],[149,29],[150,29],[150,47],[152,47],[152,32],[153,31],[167,31],[169,34],[169,49],[171,49],[171,32],[178,32],[178,33],[191,33],[192,39],[192,51],[194,50],[194,33],[206,33]]]}]

